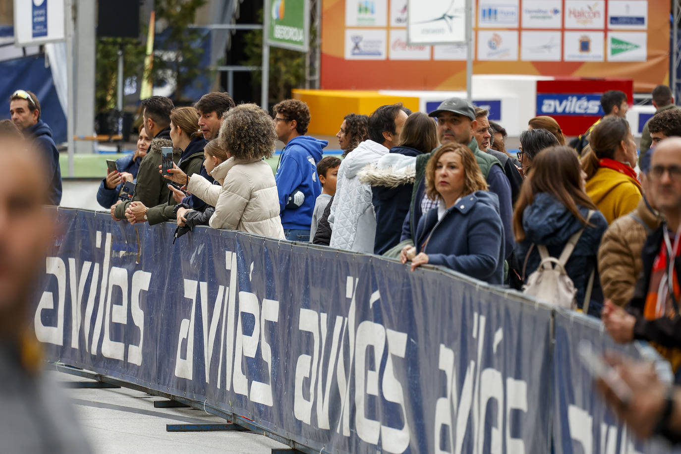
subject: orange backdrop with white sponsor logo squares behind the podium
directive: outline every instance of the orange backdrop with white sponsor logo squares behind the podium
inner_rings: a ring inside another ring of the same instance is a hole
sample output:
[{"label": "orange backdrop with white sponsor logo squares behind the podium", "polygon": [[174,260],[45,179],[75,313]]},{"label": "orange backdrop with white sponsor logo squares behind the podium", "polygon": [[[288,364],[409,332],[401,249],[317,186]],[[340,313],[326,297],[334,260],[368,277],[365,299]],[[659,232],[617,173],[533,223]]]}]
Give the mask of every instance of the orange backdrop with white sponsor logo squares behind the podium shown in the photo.
[{"label": "orange backdrop with white sponsor logo squares behind the podium", "polygon": [[[322,8],[321,88],[465,89],[466,46],[409,46],[407,0]],[[477,0],[473,73],[631,78],[649,92],[669,83],[669,12],[669,0]]]}]

